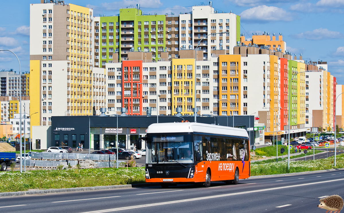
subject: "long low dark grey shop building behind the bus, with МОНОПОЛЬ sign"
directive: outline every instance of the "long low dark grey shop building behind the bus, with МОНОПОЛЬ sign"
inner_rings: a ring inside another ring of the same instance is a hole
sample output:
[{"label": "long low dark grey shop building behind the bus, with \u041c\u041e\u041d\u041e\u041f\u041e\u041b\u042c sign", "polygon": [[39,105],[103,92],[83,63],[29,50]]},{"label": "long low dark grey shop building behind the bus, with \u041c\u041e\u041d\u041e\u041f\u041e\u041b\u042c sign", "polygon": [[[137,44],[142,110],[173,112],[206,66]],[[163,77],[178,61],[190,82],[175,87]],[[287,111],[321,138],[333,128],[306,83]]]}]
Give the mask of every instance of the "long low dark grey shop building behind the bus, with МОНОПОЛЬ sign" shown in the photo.
[{"label": "long low dark grey shop building behind the bus, with \u041c\u041e\u041d\u041e\u041f\u041e\u041b\u042c sign", "polygon": [[[251,125],[249,124],[249,118]],[[159,123],[182,122],[183,119],[190,122],[194,121],[193,116],[159,116]],[[197,116],[197,122],[232,127],[233,117]],[[156,116],[118,116],[119,148],[130,149],[131,146],[136,145],[138,149],[144,149],[146,146],[144,141],[139,144],[138,139],[140,136],[146,135],[148,126],[153,123],[157,123]],[[91,140],[89,140],[89,126]],[[250,144],[254,144],[254,116],[234,116],[234,127],[246,130],[251,127]],[[50,131],[47,132],[50,133]],[[79,143],[82,143],[85,149],[88,149],[89,145],[91,150],[107,149],[116,147],[116,134],[117,116],[53,116],[51,141],[47,140],[46,146],[61,146],[64,143],[67,146],[76,148]],[[50,142],[51,144],[49,144]]]}]

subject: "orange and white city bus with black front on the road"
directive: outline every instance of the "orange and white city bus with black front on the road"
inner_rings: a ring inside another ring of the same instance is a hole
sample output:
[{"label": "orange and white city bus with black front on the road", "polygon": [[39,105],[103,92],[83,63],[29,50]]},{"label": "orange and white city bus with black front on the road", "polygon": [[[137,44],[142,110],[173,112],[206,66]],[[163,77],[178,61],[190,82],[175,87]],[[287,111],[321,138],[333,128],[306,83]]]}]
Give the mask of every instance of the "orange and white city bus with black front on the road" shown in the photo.
[{"label": "orange and white city bus with black front on the road", "polygon": [[250,177],[249,138],[245,129],[201,123],[160,123],[148,127],[146,182],[170,184]]}]

